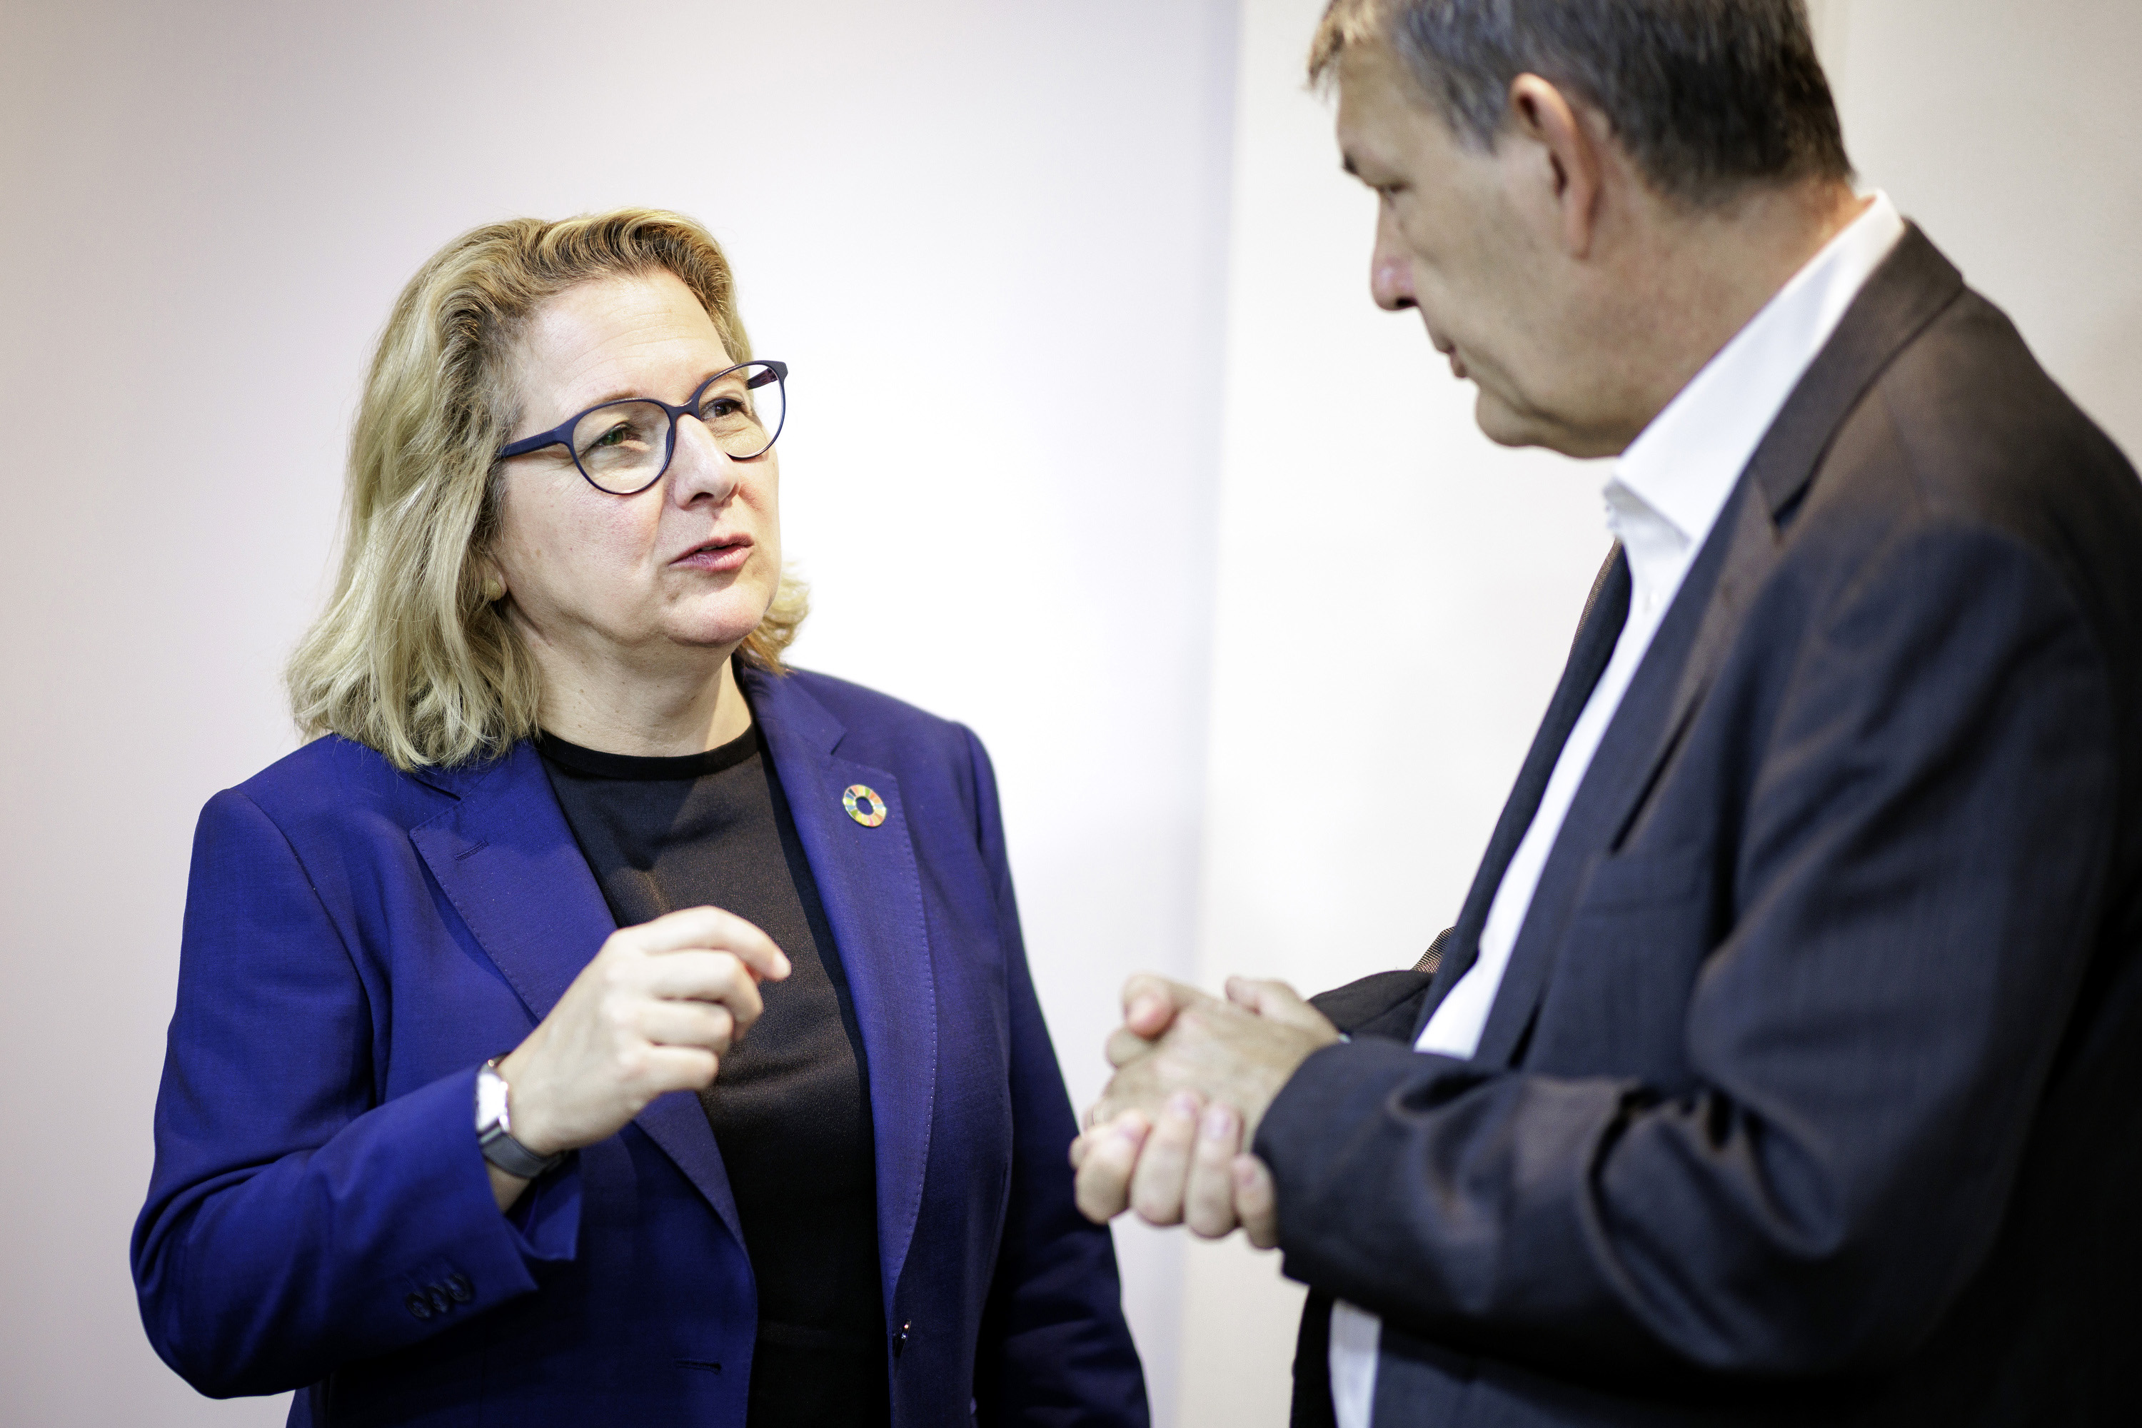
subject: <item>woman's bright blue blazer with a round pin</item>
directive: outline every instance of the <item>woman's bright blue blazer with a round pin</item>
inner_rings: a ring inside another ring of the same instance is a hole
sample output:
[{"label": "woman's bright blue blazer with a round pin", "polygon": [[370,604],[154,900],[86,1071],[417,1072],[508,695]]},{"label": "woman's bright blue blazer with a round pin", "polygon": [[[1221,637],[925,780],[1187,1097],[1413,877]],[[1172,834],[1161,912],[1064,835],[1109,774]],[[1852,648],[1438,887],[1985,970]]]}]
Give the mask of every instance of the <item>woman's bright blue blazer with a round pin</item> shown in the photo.
[{"label": "woman's bright blue blazer with a round pin", "polygon": [[[1144,1424],[987,754],[857,685],[743,679],[861,1023],[893,1422]],[[319,739],[216,794],[133,1235],[163,1359],[300,1389],[293,1424],[741,1426],[756,1289],[696,1098],[512,1214],[476,1148],[478,1066],[615,927],[527,743],[398,773]]]}]

